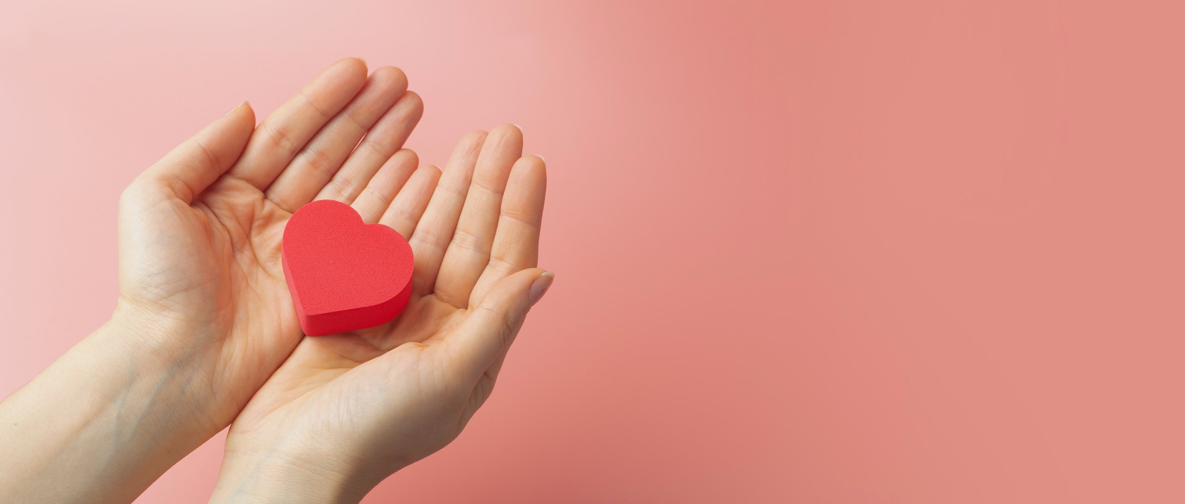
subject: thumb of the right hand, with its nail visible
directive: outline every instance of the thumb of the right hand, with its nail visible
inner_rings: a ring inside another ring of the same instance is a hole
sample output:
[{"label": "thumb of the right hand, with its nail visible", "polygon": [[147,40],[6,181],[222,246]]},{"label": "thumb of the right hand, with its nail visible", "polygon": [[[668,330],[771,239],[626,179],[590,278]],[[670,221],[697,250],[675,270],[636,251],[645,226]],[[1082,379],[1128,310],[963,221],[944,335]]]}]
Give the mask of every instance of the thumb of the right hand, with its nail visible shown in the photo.
[{"label": "thumb of the right hand, with its nail visible", "polygon": [[556,275],[531,268],[494,285],[456,330],[434,342],[451,368],[450,374],[476,385],[481,375],[510,349],[523,327],[527,311],[543,298]]}]

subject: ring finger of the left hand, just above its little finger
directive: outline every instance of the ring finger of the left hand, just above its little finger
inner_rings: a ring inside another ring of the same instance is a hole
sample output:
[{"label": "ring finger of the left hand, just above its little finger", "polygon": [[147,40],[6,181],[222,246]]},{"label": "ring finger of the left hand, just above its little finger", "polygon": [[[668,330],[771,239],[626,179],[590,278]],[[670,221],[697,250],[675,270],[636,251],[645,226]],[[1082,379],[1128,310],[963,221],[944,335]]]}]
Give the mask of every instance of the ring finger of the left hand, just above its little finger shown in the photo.
[{"label": "ring finger of the left hand, just above its little finger", "polygon": [[[405,92],[383,117],[363,136],[341,165],[341,170],[321,189],[314,199],[337,199],[352,203],[366,186],[367,180],[390,157],[403,147],[424,114],[424,102],[414,91]],[[412,166],[415,167],[415,166]]]}]

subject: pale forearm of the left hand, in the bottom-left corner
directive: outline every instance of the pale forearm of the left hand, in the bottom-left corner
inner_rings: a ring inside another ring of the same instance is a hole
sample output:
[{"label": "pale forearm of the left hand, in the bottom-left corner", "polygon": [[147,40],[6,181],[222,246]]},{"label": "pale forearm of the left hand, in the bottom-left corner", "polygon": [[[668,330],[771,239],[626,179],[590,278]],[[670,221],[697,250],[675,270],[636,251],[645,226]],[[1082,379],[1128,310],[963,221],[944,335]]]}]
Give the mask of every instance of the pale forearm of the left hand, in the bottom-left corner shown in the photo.
[{"label": "pale forearm of the left hand, in the bottom-left corner", "polygon": [[130,502],[218,430],[143,330],[113,319],[0,403],[0,502]]}]

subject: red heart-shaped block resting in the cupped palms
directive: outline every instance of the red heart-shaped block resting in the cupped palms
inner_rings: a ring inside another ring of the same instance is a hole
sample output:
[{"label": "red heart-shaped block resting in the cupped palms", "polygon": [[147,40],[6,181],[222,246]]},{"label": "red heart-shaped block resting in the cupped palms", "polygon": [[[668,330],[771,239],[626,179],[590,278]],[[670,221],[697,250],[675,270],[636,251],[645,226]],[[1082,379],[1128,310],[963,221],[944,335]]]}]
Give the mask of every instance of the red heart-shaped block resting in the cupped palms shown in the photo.
[{"label": "red heart-shaped block resting in the cupped palms", "polygon": [[284,279],[308,336],[386,324],[411,299],[411,245],[383,224],[364,224],[350,205],[321,199],[284,227]]}]

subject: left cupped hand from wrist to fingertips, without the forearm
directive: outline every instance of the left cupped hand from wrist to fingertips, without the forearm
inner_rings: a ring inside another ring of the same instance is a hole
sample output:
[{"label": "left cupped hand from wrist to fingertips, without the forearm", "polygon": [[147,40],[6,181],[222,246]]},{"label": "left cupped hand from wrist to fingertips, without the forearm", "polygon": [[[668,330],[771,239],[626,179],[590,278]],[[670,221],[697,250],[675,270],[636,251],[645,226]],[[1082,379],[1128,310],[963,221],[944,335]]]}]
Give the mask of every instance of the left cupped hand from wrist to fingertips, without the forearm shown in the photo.
[{"label": "left cupped hand from wrist to fingertips, without the forearm", "polygon": [[236,107],[123,192],[115,319],[186,381],[192,410],[172,421],[225,427],[300,342],[280,261],[293,211],[332,198],[377,219],[427,204],[391,204],[438,177],[401,149],[423,110],[406,87],[398,69],[339,60],[258,127]]}]

